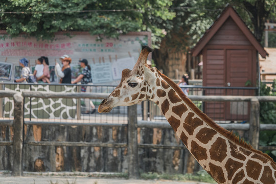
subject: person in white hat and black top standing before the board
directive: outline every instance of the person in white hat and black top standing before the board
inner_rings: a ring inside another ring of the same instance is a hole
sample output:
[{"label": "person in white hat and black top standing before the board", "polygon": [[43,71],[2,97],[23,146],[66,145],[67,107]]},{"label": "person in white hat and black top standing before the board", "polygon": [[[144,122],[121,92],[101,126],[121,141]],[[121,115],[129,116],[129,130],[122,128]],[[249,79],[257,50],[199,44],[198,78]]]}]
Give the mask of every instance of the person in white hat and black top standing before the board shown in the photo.
[{"label": "person in white hat and black top standing before the board", "polygon": [[55,72],[58,77],[60,77],[61,84],[71,84],[71,67],[70,64],[72,62],[72,59],[67,56],[63,55],[60,57],[60,60],[62,62],[62,68],[60,68],[60,65],[56,63],[55,65]]}]

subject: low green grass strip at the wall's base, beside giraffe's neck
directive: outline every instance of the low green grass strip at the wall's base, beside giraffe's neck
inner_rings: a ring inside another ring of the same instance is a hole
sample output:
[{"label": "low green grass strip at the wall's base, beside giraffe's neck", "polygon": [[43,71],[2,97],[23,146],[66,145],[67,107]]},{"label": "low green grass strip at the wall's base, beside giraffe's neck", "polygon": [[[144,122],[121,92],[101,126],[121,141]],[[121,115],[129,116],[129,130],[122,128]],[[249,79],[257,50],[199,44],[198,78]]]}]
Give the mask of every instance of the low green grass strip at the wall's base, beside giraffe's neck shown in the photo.
[{"label": "low green grass strip at the wall's base, beside giraffe's neck", "polygon": [[201,170],[194,174],[158,174],[158,173],[142,173],[141,178],[143,179],[169,179],[169,180],[178,180],[178,181],[201,181],[201,182],[210,182],[216,183],[215,180],[205,171]]}]

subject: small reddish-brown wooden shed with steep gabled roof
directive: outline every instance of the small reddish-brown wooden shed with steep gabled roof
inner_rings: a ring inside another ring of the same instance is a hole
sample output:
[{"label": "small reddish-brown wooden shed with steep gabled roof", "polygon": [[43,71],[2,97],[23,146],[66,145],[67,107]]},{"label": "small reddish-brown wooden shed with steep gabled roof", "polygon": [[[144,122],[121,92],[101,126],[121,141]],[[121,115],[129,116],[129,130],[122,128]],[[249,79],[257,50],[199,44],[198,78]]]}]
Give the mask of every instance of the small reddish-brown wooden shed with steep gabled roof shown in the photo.
[{"label": "small reddish-brown wooden shed with steep gabled roof", "polygon": [[[203,86],[256,87],[258,53],[267,53],[234,8],[228,5],[205,32],[192,56],[202,54]],[[256,90],[205,89],[205,95],[255,95]],[[205,103],[204,112],[214,120],[248,120],[249,105],[243,102]]]}]

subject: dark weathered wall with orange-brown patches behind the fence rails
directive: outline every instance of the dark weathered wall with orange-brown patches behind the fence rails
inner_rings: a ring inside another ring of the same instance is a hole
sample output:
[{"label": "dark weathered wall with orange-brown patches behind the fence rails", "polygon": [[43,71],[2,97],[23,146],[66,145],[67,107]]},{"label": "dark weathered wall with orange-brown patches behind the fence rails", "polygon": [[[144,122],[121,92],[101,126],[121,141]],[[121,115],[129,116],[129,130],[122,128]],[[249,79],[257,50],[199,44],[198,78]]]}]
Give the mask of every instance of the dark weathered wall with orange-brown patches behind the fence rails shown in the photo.
[{"label": "dark weathered wall with orange-brown patches behind the fence rails", "polygon": [[[25,141],[126,143],[127,127],[25,125]],[[0,141],[12,141],[13,128],[0,126]],[[172,129],[138,128],[138,143],[181,145]],[[32,146],[24,144],[24,171],[127,172],[127,148]],[[0,146],[0,170],[11,170],[12,146]],[[190,160],[190,161],[189,161]],[[140,172],[197,170],[187,150],[139,148]]]}]

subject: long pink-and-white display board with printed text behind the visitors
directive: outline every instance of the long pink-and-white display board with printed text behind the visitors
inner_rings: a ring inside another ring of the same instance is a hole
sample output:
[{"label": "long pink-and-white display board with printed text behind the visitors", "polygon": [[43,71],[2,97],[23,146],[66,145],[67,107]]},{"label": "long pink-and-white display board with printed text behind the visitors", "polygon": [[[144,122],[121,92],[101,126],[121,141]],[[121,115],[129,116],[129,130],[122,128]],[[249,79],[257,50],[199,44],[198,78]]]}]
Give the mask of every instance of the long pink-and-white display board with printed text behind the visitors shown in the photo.
[{"label": "long pink-and-white display board with printed text behind the visitors", "polygon": [[[0,79],[13,82],[20,77],[18,61],[23,57],[29,60],[29,66],[32,68],[40,56],[47,56],[52,71],[50,81],[57,83],[59,80],[53,72],[53,67],[56,62],[61,65],[59,57],[67,54],[72,58],[72,80],[82,70],[78,65],[79,59],[85,58],[91,66],[94,84],[118,84],[122,70],[126,67],[132,69],[134,66],[142,45],[151,45],[149,32],[132,32],[121,35],[118,39],[103,38],[102,41],[97,41],[97,36],[91,36],[88,32],[71,32],[71,36],[60,32],[53,41],[26,38],[24,35],[0,40],[0,59],[6,61],[2,66],[11,68],[3,70],[2,74],[0,63]],[[151,55],[149,59],[150,57]]]}]

